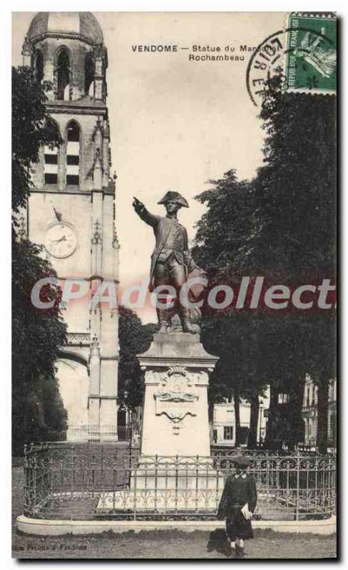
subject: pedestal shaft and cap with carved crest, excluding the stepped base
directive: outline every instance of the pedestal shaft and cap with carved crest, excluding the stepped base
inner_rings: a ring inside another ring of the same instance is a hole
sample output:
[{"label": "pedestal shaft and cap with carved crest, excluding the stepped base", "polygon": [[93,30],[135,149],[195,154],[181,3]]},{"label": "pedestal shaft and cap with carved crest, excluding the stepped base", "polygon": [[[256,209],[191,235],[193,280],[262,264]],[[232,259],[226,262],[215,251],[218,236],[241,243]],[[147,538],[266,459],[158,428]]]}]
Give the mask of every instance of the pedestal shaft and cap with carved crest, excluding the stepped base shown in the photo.
[{"label": "pedestal shaft and cap with carved crest, excluding the stepped base", "polygon": [[209,456],[208,374],[218,358],[198,335],[157,333],[138,360],[145,371],[141,456]]}]

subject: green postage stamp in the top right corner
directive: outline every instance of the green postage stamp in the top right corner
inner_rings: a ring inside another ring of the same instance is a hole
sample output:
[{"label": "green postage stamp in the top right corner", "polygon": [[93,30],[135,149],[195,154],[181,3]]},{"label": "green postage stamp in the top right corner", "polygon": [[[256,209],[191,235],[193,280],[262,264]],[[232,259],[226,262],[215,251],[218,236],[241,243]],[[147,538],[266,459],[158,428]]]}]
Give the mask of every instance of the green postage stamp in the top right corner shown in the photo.
[{"label": "green postage stamp in the top right corner", "polygon": [[290,14],[285,75],[289,90],[336,92],[337,19],[334,14]]}]

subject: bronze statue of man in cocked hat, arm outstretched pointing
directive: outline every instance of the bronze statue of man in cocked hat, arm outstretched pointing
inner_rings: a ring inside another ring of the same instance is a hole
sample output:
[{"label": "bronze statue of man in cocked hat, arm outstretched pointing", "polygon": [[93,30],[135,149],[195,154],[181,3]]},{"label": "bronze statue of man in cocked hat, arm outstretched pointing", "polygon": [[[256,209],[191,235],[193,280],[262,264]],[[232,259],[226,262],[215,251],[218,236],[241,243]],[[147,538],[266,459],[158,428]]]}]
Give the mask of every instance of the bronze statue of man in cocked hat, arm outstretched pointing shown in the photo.
[{"label": "bronze statue of man in cocked hat, arm outstretched pointing", "polygon": [[[180,317],[184,333],[197,333],[199,327],[191,323],[190,310],[179,301],[180,289],[187,281],[188,274],[199,269],[188,249],[188,232],[179,224],[177,217],[181,207],[189,207],[188,201],[178,192],[170,190],[158,204],[165,205],[167,211],[165,217],[150,214],[137,198],[134,198],[133,202],[135,212],[146,224],[153,227],[155,234],[155,249],[150,266],[150,291],[160,285],[173,286],[176,291],[175,313]],[[158,308],[157,315],[160,332],[168,332],[170,326],[168,309]]]}]

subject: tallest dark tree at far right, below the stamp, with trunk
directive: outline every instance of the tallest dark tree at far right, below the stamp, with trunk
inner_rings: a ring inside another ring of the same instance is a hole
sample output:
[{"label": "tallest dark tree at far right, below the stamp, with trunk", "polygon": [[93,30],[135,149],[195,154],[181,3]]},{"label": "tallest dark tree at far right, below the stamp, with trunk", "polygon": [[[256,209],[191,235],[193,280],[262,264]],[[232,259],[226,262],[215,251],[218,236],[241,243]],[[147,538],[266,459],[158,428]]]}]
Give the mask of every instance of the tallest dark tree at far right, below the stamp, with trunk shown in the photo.
[{"label": "tallest dark tree at far right, below the stamp, with trunk", "polygon": [[[290,283],[335,277],[335,107],[331,97],[277,89],[262,105],[266,140],[265,166],[255,181],[262,219],[257,255],[266,271]],[[296,373],[311,373],[319,386],[317,444],[324,452],[327,390],[335,374],[334,314],[300,314],[289,323],[282,338],[296,346]]]}]

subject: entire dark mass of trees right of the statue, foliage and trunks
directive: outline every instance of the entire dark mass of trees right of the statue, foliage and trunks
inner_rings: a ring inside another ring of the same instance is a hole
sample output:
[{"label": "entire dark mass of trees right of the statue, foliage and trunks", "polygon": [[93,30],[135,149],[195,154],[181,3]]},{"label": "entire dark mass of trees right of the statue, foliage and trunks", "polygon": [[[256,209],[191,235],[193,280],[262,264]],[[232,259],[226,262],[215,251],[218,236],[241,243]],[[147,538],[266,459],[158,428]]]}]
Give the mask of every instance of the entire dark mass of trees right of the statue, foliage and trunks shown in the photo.
[{"label": "entire dark mass of trees right of the statue, foliage and trunks", "polygon": [[[210,285],[233,286],[243,275],[265,276],[272,284],[288,286],[334,279],[334,100],[273,89],[265,94],[260,118],[264,164],[255,178],[238,181],[230,170],[197,197],[207,210],[198,222],[195,257],[207,270]],[[208,310],[203,338],[220,356],[213,381],[219,377],[224,393],[230,389],[255,402],[270,383],[274,392],[292,395],[294,440],[302,435],[305,373],[317,378],[319,393],[322,386],[319,443],[324,450],[325,392],[334,375],[332,311],[270,314],[227,309],[212,316]],[[211,395],[217,392],[212,386]],[[250,428],[255,435],[255,425]],[[254,445],[255,437],[251,440]]]}]

